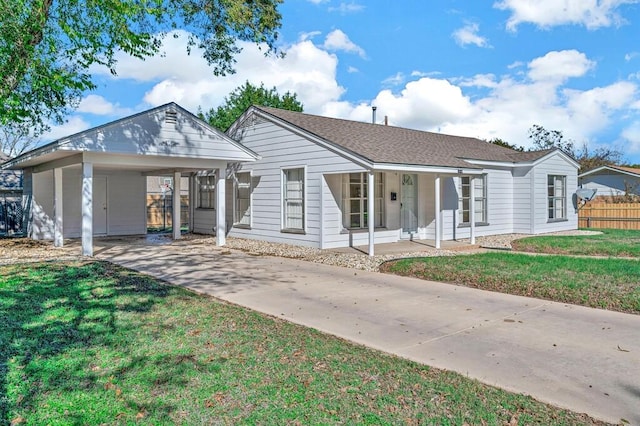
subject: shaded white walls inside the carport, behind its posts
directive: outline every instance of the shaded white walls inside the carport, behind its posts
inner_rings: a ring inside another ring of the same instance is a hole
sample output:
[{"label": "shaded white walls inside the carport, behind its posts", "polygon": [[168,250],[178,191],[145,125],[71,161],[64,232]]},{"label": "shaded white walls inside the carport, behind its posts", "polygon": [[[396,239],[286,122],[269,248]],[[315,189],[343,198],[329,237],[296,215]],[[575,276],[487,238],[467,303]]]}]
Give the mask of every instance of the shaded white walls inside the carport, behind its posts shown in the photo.
[{"label": "shaded white walls inside the carport, behind its posts", "polygon": [[[107,235],[146,233],[146,178],[127,171],[95,171],[94,178],[107,181]],[[63,169],[63,236],[79,238],[82,233],[81,173]],[[33,175],[31,235],[38,240],[53,239],[53,170]]]}]

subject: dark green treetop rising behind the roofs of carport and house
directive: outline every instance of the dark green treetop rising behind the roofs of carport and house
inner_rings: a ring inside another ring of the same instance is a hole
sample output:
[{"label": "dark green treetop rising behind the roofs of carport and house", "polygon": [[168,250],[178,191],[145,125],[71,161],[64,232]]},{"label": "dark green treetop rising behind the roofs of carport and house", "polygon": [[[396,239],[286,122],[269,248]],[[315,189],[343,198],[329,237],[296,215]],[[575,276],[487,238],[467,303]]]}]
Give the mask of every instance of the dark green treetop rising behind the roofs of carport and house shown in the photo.
[{"label": "dark green treetop rising behind the roofs of carport and house", "polygon": [[269,106],[302,112],[303,105],[298,101],[295,93],[287,92],[279,95],[276,88],[266,89],[264,83],[256,87],[248,81],[237,87],[224,98],[224,103],[203,113],[199,108],[198,116],[223,132],[242,115],[251,105]]}]

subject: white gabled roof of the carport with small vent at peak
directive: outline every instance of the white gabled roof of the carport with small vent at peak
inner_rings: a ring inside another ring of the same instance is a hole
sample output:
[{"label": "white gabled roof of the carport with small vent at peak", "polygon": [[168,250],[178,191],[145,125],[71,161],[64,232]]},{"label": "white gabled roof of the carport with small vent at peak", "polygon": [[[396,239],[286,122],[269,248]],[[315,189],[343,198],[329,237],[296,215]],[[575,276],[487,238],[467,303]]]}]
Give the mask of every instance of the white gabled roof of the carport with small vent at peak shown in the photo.
[{"label": "white gabled roof of the carport with small vent at peak", "polygon": [[103,164],[145,172],[178,171],[217,168],[220,162],[258,158],[250,149],[171,102],[57,139],[0,168],[66,167],[87,161],[98,167]]}]

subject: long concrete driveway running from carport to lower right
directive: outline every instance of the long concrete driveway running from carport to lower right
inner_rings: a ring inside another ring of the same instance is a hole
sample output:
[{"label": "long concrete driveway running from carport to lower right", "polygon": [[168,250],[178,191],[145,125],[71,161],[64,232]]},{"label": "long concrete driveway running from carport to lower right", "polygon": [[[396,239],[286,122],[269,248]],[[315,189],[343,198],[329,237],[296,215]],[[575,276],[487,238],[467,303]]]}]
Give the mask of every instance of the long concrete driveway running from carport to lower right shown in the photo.
[{"label": "long concrete driveway running from carport to lower right", "polygon": [[610,422],[640,425],[640,316],[189,244],[97,247],[171,283]]}]

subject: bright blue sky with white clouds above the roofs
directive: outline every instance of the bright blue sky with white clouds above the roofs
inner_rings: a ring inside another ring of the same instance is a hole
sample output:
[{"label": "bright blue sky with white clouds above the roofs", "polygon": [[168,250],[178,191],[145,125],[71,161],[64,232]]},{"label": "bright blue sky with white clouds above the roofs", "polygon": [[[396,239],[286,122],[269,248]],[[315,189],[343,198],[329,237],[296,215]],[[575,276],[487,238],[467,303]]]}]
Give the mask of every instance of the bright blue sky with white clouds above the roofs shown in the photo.
[{"label": "bright blue sky with white clouds above the roofs", "polygon": [[243,44],[237,73],[186,55],[96,69],[65,136],[169,101],[220,105],[246,80],[292,91],[305,112],[529,146],[528,129],[611,145],[640,163],[640,0],[286,0],[284,59]]}]

